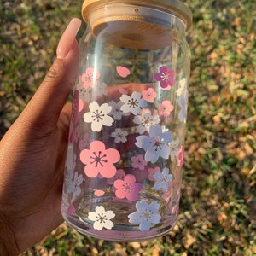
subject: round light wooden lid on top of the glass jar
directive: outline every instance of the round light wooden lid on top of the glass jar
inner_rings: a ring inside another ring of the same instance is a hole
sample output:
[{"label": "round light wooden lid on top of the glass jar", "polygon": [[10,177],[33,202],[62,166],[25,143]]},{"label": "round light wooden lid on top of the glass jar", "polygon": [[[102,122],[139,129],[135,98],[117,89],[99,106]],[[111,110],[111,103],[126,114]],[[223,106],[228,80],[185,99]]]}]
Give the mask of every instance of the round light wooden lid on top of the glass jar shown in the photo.
[{"label": "round light wooden lid on top of the glass jar", "polygon": [[132,49],[166,47],[172,44],[172,26],[189,29],[192,23],[191,11],[177,0],[85,0],[82,15],[86,22],[90,14],[96,37]]}]

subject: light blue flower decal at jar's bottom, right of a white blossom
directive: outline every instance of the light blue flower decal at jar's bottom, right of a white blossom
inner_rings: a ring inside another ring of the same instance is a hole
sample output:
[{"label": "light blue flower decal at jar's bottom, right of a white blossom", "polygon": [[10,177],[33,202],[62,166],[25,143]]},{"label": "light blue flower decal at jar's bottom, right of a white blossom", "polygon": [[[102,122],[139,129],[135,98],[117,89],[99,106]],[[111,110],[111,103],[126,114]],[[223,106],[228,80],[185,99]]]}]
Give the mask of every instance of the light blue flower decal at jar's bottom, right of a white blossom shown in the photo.
[{"label": "light blue flower decal at jar's bottom, right of a white blossom", "polygon": [[151,224],[158,224],[160,222],[160,214],[158,209],[160,204],[153,201],[149,205],[146,201],[138,201],[136,204],[137,212],[132,212],[128,215],[131,224],[140,224],[141,231],[150,230]]}]

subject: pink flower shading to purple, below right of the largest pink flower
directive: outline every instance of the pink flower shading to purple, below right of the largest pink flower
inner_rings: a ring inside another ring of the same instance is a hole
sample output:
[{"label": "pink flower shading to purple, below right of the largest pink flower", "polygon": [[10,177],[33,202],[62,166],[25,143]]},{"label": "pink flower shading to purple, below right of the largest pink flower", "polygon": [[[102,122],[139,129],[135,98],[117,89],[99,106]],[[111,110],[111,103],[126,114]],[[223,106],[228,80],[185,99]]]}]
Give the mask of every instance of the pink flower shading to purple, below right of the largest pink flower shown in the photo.
[{"label": "pink flower shading to purple, below right of the largest pink flower", "polygon": [[113,186],[117,189],[115,195],[118,198],[127,198],[129,201],[137,199],[137,193],[142,190],[143,185],[136,182],[136,178],[127,174],[124,180],[118,179],[113,183]]}]

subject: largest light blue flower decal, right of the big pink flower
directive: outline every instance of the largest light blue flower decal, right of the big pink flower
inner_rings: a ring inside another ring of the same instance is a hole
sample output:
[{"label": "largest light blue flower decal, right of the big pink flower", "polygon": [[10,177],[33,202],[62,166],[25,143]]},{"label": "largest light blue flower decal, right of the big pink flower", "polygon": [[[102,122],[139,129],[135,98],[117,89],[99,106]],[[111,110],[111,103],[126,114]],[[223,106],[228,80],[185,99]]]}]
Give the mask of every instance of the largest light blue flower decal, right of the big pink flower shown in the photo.
[{"label": "largest light blue flower decal, right of the big pink flower", "polygon": [[155,163],[159,157],[168,159],[170,155],[168,143],[172,141],[171,131],[163,132],[160,125],[151,125],[149,127],[149,136],[138,136],[136,140],[136,146],[146,150],[145,160],[147,162]]}]

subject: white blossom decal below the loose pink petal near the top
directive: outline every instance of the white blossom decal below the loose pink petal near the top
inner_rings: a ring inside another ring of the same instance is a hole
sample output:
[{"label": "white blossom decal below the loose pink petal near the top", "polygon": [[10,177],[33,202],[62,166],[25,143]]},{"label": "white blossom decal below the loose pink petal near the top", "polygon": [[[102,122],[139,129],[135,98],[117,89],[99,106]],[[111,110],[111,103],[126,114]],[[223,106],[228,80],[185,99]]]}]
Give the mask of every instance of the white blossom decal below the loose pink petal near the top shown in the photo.
[{"label": "white blossom decal below the loose pink petal near the top", "polygon": [[131,96],[122,95],[120,101],[123,102],[124,105],[122,105],[121,110],[124,113],[131,112],[134,115],[141,113],[141,108],[147,106],[147,102],[141,99],[141,96],[142,95],[137,91],[132,92]]}]

